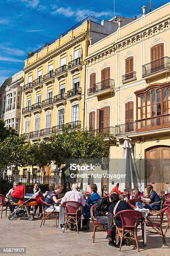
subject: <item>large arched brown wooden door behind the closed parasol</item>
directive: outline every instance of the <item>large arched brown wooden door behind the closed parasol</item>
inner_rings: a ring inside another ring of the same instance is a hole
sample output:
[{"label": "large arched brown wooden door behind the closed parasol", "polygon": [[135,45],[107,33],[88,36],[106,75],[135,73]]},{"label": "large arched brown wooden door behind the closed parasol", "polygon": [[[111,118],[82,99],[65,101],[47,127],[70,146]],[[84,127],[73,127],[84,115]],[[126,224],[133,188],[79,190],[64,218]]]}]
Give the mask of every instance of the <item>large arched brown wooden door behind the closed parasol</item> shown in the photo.
[{"label": "large arched brown wooden door behind the closed parasol", "polygon": [[147,185],[155,191],[170,187],[170,146],[155,146],[146,150]]}]

